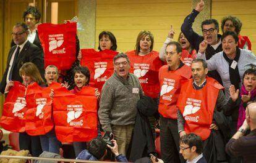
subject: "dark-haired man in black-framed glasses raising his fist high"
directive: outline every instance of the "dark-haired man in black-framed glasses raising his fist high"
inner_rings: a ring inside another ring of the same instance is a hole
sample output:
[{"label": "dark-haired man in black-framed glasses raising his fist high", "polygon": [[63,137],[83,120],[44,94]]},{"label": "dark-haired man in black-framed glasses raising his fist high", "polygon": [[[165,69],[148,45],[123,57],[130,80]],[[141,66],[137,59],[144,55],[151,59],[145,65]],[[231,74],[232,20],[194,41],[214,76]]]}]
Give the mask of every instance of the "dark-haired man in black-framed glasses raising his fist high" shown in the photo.
[{"label": "dark-haired man in black-framed glasses raising his fist high", "polygon": [[[197,15],[203,10],[204,2],[201,0],[197,3],[197,6],[194,10],[192,10],[192,13],[188,15],[182,26],[181,31],[186,36],[187,40],[190,42],[192,47],[197,50],[199,54],[205,54],[206,59],[210,59],[211,56],[214,54],[221,52],[221,35],[219,33],[219,23],[215,19],[207,19],[202,22],[201,28],[203,36],[200,36],[199,34],[195,33],[195,31],[192,29],[192,25],[194,23],[195,18]],[[199,49],[199,45],[202,41],[207,42],[208,46],[204,50]],[[217,71],[209,71],[208,76],[211,78],[216,79],[220,84],[222,84],[220,75]]]}]

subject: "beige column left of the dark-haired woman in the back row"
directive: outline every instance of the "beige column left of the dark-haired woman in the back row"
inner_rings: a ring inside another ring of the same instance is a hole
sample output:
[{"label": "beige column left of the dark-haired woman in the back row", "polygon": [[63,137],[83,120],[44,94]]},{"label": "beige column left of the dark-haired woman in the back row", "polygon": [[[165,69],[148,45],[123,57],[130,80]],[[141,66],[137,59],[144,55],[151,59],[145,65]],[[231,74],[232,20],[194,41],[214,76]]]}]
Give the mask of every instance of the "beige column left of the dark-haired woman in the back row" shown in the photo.
[{"label": "beige column left of the dark-haired woman in the back row", "polygon": [[79,31],[80,49],[95,47],[95,26],[96,26],[96,0],[79,0],[78,15],[79,22],[84,30]]}]

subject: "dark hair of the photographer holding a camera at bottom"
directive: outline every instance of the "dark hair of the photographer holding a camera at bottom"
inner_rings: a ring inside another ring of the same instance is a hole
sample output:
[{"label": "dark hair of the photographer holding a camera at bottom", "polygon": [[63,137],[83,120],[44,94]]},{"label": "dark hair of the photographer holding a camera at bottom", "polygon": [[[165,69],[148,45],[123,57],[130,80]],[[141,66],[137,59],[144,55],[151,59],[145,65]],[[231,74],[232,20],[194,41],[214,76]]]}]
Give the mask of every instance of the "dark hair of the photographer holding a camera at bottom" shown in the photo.
[{"label": "dark hair of the photographer holding a camera at bottom", "polygon": [[88,143],[88,151],[90,154],[100,159],[104,156],[107,145],[103,138],[93,138],[93,140]]}]

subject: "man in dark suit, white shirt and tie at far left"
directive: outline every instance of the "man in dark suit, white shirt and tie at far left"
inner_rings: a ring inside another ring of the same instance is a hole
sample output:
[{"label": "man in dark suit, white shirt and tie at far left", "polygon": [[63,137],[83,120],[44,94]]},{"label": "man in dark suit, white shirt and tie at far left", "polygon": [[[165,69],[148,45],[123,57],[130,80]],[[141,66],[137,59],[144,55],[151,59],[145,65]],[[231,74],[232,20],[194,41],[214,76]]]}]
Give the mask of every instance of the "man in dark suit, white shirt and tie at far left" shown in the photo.
[{"label": "man in dark suit, white shirt and tie at far left", "polygon": [[41,76],[44,76],[44,57],[43,51],[28,41],[28,26],[25,23],[17,23],[12,29],[12,38],[15,46],[12,46],[7,58],[7,66],[0,84],[0,92],[4,93],[6,84],[9,81],[20,81],[22,78],[19,69],[26,62],[35,63]]}]

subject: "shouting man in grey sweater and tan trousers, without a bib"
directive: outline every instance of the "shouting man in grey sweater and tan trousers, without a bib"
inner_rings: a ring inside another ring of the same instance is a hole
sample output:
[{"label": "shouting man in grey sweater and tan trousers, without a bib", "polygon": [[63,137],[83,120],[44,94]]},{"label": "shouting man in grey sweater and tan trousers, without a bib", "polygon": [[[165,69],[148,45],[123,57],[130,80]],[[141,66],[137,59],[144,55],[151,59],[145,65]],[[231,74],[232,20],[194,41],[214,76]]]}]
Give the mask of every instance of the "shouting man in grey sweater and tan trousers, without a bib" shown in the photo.
[{"label": "shouting man in grey sweater and tan trousers, without a bib", "polygon": [[137,101],[142,97],[139,79],[129,73],[130,61],[126,54],[114,57],[114,74],[101,91],[98,116],[105,132],[113,132],[119,152],[126,155],[137,115]]}]

